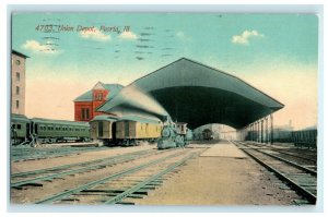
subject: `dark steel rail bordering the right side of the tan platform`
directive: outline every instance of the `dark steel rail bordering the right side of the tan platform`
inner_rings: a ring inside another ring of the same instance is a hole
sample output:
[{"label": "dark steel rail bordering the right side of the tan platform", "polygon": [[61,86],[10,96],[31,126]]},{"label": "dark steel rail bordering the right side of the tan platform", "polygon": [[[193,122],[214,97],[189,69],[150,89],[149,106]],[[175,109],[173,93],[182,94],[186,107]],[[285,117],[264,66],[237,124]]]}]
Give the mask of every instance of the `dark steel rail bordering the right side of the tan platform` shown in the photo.
[{"label": "dark steel rail bordering the right side of the tan platform", "polygon": [[266,167],[268,170],[274,172],[280,179],[286,181],[294,190],[296,190],[297,192],[303,194],[311,203],[313,203],[313,204],[316,203],[316,201],[317,201],[316,195],[314,195],[313,193],[311,193],[309,191],[307,191],[306,189],[304,189],[303,186],[301,186],[300,184],[297,184],[296,182],[294,182],[293,180],[291,180],[290,178],[288,178],[286,176],[284,176],[280,171],[276,170],[273,167],[267,165],[266,162],[263,162],[262,160],[260,160],[258,157],[254,156],[253,154],[250,154],[246,149],[243,149],[243,152],[245,152],[248,156],[250,156],[257,162],[259,162],[260,165]]}]

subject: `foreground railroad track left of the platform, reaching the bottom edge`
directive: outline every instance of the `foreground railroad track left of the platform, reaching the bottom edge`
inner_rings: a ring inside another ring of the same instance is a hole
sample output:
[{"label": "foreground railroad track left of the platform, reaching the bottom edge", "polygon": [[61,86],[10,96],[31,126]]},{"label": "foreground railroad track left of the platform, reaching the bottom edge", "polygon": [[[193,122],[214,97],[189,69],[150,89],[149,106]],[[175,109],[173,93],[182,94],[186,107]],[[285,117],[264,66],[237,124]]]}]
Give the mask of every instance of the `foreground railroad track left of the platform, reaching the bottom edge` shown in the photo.
[{"label": "foreground railroad track left of the platform, reaching the bottom edge", "polygon": [[[127,198],[142,198],[149,190],[161,185],[165,176],[176,171],[188,159],[203,149],[157,150],[159,156],[143,164],[126,168],[102,179],[67,189],[34,202],[35,204],[133,204]],[[166,154],[164,154],[166,153]],[[163,156],[164,154],[164,156]]]}]

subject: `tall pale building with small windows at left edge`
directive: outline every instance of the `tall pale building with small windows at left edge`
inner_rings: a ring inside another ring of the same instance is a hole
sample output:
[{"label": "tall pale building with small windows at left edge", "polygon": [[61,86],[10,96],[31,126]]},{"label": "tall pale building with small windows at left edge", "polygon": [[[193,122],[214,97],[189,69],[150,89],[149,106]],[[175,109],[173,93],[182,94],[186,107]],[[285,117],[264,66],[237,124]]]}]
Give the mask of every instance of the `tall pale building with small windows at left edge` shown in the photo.
[{"label": "tall pale building with small windows at left edge", "polygon": [[11,51],[11,112],[25,114],[26,55]]}]

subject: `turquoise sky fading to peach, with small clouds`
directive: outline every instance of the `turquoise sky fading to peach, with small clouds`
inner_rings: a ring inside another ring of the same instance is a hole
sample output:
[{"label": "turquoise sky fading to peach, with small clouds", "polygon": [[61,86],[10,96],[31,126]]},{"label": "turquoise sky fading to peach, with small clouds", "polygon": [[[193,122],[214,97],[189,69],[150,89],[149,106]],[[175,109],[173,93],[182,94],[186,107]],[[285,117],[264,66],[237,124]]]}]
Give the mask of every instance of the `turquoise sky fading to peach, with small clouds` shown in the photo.
[{"label": "turquoise sky fading to peach, with small clouds", "polygon": [[285,107],[274,124],[317,124],[318,19],[313,14],[14,13],[26,63],[26,116],[73,120],[98,81],[128,85],[179,58],[216,68]]}]

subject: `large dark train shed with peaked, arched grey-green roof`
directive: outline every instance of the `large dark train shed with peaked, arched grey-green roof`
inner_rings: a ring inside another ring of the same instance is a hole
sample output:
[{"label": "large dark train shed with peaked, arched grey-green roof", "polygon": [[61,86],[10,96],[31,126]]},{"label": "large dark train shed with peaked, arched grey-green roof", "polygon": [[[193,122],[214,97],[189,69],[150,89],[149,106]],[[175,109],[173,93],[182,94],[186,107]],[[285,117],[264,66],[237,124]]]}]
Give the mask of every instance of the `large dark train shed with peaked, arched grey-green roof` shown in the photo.
[{"label": "large dark train shed with peaked, arched grey-green roof", "polygon": [[[125,88],[129,86],[151,95],[173,120],[187,122],[190,129],[207,123],[244,129],[283,108],[281,103],[243,80],[186,58],[138,79]],[[115,98],[98,110],[108,112],[114,104]]]}]

